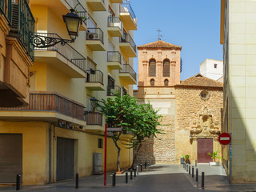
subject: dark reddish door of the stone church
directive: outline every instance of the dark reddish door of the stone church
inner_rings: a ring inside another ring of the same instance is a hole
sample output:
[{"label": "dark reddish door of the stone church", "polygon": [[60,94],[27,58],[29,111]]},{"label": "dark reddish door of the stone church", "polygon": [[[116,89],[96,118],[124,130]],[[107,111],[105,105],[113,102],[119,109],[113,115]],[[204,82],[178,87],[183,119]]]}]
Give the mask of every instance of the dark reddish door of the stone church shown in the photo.
[{"label": "dark reddish door of the stone church", "polygon": [[208,153],[213,154],[213,139],[198,138],[198,162],[212,162],[213,160]]}]

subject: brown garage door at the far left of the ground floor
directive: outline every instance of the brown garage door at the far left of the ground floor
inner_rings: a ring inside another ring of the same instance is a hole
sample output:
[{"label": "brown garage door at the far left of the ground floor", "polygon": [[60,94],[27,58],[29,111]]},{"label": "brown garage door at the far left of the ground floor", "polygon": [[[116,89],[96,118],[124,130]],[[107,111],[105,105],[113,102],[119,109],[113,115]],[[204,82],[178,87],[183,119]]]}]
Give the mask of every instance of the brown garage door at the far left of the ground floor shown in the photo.
[{"label": "brown garage door at the far left of the ground floor", "polygon": [[16,174],[22,176],[22,134],[0,134],[0,182],[15,183]]}]

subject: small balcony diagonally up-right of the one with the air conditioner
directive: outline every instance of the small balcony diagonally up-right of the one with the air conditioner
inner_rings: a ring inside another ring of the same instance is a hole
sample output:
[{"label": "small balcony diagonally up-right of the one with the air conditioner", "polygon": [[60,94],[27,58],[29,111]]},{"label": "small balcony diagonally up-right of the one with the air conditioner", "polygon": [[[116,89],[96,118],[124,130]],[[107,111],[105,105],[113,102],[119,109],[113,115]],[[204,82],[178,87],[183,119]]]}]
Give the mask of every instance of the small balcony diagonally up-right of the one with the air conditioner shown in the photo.
[{"label": "small balcony diagonally up-right of the one with the air conditioner", "polygon": [[122,37],[122,21],[118,17],[109,17],[107,31],[112,37]]}]

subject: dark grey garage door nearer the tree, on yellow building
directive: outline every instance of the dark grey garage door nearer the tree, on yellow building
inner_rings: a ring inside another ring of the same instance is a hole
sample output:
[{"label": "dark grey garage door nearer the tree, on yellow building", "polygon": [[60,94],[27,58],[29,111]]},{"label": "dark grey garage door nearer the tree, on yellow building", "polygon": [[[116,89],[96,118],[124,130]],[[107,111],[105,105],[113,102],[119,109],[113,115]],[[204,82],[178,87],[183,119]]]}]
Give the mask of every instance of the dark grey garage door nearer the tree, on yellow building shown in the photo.
[{"label": "dark grey garage door nearer the tree, on yellow building", "polygon": [[74,178],[74,139],[57,138],[57,181]]}]

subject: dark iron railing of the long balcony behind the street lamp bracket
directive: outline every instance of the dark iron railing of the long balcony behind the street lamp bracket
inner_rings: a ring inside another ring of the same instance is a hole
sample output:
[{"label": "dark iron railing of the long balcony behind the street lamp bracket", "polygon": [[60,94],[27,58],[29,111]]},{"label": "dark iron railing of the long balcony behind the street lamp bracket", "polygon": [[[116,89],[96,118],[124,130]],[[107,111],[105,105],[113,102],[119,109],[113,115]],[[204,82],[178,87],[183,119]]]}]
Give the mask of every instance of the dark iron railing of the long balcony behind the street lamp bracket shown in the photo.
[{"label": "dark iron railing of the long balcony behind the street lamp bracket", "polygon": [[[50,33],[36,33],[34,36],[34,43],[37,44],[46,44],[47,42],[52,42],[54,40],[50,38],[58,38],[62,39],[58,34],[50,34]],[[68,59],[70,62],[73,62],[74,65],[78,66],[80,69],[86,71],[86,58],[79,54],[77,50],[75,50],[72,46],[66,43],[64,46],[62,43],[55,44],[50,47],[43,48],[34,48],[34,50],[54,50],[57,51],[58,54],[62,54],[62,56]]]}]

